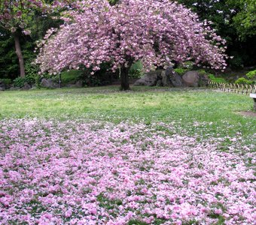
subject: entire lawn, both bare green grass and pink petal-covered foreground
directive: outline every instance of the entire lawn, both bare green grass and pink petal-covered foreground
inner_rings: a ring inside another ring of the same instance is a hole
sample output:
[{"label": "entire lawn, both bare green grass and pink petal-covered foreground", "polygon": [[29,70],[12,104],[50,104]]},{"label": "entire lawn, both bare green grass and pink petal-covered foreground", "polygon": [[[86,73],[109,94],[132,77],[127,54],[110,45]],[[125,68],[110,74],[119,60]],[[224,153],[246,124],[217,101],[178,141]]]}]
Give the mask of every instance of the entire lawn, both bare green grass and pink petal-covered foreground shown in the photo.
[{"label": "entire lawn, both bare green grass and pink petal-covered foreground", "polygon": [[253,223],[248,96],[117,89],[1,93],[0,223]]}]

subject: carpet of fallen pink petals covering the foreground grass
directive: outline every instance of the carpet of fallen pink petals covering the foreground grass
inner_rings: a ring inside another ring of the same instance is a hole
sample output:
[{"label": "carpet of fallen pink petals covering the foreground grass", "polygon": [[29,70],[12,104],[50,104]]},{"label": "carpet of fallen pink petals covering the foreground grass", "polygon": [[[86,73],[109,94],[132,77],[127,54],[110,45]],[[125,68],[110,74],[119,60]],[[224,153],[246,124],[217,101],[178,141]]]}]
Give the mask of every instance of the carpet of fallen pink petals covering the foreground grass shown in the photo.
[{"label": "carpet of fallen pink petals covering the foreground grass", "polygon": [[168,130],[0,121],[0,223],[254,223],[250,149],[220,151],[221,139],[199,143]]}]

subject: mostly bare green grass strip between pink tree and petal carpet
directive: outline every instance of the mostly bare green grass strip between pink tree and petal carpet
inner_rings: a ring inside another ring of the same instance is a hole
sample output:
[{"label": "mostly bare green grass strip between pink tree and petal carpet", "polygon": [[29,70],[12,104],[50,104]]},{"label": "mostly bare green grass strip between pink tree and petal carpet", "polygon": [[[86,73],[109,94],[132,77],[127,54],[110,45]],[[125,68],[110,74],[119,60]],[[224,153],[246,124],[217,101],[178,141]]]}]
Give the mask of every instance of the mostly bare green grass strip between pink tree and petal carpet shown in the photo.
[{"label": "mostly bare green grass strip between pink tree and petal carpet", "polygon": [[[175,132],[198,136],[229,136],[239,133],[253,142],[255,117],[248,95],[209,89],[134,87],[119,92],[117,86],[85,89],[33,90],[0,93],[0,119],[72,118],[101,121],[157,121],[173,123]],[[160,127],[161,128],[161,127]]]}]

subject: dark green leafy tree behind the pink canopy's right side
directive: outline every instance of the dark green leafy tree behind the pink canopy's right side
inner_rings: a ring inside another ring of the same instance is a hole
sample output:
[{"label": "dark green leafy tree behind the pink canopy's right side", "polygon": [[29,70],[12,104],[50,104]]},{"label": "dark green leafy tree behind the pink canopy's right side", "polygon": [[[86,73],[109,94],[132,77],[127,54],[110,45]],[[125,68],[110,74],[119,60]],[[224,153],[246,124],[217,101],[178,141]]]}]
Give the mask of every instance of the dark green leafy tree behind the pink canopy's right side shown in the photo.
[{"label": "dark green leafy tree behind the pink canopy's right side", "polygon": [[217,34],[227,40],[227,55],[232,68],[256,65],[256,5],[254,0],[178,0],[198,14],[200,20],[212,21]]}]

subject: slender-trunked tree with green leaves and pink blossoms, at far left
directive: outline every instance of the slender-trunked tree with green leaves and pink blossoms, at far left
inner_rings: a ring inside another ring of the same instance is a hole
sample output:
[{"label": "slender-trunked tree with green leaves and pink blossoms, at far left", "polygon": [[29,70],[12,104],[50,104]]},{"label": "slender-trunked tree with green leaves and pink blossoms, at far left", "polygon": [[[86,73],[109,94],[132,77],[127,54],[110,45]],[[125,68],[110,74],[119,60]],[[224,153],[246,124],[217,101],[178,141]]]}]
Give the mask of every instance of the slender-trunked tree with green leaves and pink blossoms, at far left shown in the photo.
[{"label": "slender-trunked tree with green leaves and pink blossoms, at far left", "polygon": [[15,52],[19,59],[20,77],[25,77],[23,52],[20,37],[31,34],[35,13],[53,13],[59,8],[75,7],[75,0],[0,0],[0,26],[11,31]]}]

